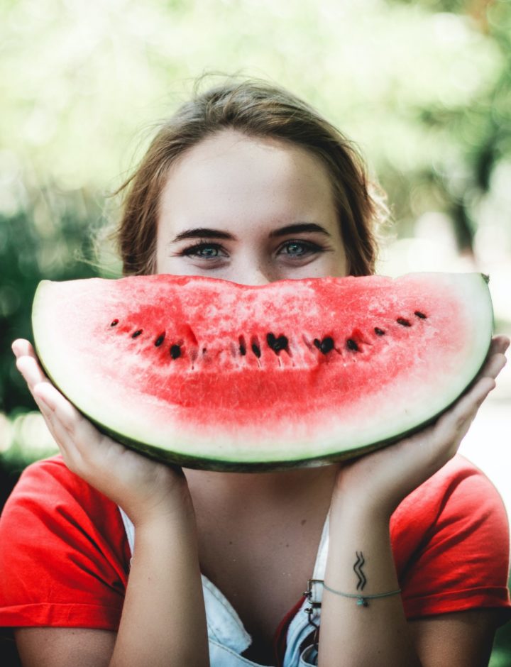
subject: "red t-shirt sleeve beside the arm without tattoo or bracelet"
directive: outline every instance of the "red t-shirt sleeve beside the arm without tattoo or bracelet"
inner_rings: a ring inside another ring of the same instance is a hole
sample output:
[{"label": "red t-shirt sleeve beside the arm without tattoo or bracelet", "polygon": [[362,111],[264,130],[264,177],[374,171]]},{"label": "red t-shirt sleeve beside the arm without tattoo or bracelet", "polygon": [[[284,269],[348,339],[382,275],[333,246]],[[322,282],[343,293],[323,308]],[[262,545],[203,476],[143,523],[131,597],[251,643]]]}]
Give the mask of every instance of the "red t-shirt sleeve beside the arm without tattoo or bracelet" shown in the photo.
[{"label": "red t-shirt sleeve beside the arm without tattoo or bracelet", "polygon": [[115,630],[128,563],[118,507],[60,457],[35,463],[0,519],[0,625]]}]

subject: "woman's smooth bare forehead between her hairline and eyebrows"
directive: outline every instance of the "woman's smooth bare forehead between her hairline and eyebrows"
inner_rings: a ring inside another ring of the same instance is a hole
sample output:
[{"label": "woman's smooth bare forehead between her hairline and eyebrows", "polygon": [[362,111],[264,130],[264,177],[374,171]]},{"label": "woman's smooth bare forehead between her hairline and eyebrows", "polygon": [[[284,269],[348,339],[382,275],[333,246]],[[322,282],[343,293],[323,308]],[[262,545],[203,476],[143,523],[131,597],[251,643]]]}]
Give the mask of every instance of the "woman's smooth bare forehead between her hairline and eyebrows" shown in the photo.
[{"label": "woman's smooth bare forehead between her hairline and eyebrows", "polygon": [[[160,219],[190,221],[325,219],[334,195],[322,160],[292,143],[226,130],[187,150],[167,175]],[[201,220],[199,220],[201,219]]]}]

